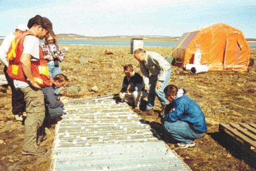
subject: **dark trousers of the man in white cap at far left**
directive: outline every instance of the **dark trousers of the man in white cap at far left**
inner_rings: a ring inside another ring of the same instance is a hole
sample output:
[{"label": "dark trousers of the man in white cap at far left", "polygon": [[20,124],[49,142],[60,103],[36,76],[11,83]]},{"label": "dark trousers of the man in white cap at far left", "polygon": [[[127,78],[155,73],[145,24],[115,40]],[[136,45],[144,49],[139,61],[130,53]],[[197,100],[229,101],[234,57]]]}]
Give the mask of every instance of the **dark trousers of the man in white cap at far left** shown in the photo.
[{"label": "dark trousers of the man in white cap at far left", "polygon": [[7,74],[7,67],[4,68],[5,77],[12,90],[12,113],[17,115],[20,112],[25,111],[24,95],[20,90],[16,90],[13,84],[13,79]]}]

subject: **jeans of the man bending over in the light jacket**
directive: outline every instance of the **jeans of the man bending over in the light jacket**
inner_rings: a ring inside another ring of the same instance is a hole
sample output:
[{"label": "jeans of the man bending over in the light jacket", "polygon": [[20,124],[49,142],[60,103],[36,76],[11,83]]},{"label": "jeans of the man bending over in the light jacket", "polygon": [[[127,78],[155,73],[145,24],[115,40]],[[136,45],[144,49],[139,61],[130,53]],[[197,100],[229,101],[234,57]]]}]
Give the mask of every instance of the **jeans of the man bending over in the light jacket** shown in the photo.
[{"label": "jeans of the man bending over in the light jacket", "polygon": [[167,86],[167,83],[170,77],[171,77],[171,70],[168,70],[166,72],[164,82],[162,82],[162,89],[160,90],[156,90],[156,82],[158,80],[158,76],[151,75],[149,77],[149,94],[147,96],[147,107],[146,107],[147,110],[152,109],[154,107],[156,96],[158,97],[162,106],[168,104],[168,101],[165,98],[164,88]]}]

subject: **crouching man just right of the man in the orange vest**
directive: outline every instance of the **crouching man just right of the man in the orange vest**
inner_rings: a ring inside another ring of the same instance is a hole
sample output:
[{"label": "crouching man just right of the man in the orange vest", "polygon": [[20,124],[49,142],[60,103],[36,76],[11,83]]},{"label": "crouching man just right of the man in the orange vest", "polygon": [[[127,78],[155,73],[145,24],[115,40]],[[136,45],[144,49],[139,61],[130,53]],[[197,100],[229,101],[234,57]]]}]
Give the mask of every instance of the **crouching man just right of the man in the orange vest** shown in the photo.
[{"label": "crouching man just right of the man in the orange vest", "polygon": [[52,86],[42,88],[45,100],[45,114],[49,117],[50,121],[54,121],[65,114],[63,107],[67,100],[59,95],[55,95],[54,91],[64,87],[68,78],[64,74],[57,74],[52,78],[52,81]]}]

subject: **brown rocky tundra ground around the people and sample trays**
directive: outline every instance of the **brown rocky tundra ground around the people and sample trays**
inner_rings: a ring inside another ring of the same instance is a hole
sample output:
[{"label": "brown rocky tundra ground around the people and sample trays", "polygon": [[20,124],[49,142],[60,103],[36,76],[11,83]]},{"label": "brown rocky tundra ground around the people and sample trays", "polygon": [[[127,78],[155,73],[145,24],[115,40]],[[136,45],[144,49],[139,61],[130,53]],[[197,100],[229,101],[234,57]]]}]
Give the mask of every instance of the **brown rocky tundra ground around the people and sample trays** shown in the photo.
[{"label": "brown rocky tundra ground around the people and sample trays", "polygon": [[[80,46],[69,47],[66,59],[61,63],[62,71],[70,82],[68,86],[80,86],[76,94],[64,95],[72,98],[86,98],[98,95],[115,94],[120,90],[122,65],[133,64],[139,72],[139,64],[130,54],[130,47],[124,46]],[[106,50],[114,54],[104,54]],[[145,50],[156,51],[163,56],[171,54],[171,47],[146,47]],[[88,63],[80,64],[80,56]],[[255,61],[256,49],[252,49],[251,58]],[[255,76],[256,65],[250,72],[209,71],[203,74],[191,74],[177,67],[172,67],[170,83],[188,91],[188,95],[201,106],[206,116],[208,134],[195,140],[196,147],[177,149],[168,144],[179,154],[193,170],[255,170],[243,159],[238,150],[229,149],[223,143],[218,131],[219,123],[255,123]],[[0,65],[0,73],[3,65]],[[99,91],[91,91],[93,86]],[[48,148],[44,155],[22,156],[22,140],[24,126],[15,122],[11,113],[10,88],[0,87],[0,170],[48,170],[50,166],[50,149],[52,148],[55,125],[47,129],[48,138],[42,144]],[[156,100],[155,111],[160,111],[160,103]],[[139,113],[138,110],[135,110]],[[139,114],[140,115],[140,114]],[[143,116],[141,116],[143,117]],[[143,117],[146,121],[160,123],[157,116]],[[162,130],[158,130],[162,133]],[[1,141],[3,140],[3,141]]]}]

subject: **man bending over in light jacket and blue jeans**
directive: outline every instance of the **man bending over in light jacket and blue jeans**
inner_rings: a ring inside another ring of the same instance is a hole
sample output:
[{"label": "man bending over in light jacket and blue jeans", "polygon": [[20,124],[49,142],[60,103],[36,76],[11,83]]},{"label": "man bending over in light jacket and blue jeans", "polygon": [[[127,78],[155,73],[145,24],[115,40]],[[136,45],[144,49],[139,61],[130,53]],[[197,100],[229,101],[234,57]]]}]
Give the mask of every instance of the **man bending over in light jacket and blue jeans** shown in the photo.
[{"label": "man bending over in light jacket and blue jeans", "polygon": [[163,116],[165,107],[168,104],[168,100],[165,98],[164,88],[167,86],[171,76],[170,64],[161,54],[153,51],[145,51],[140,48],[134,51],[134,58],[140,63],[145,89],[149,90],[146,110],[141,112],[141,114],[155,115],[153,107],[157,96],[162,105],[162,110],[159,114]]}]

